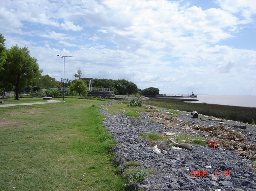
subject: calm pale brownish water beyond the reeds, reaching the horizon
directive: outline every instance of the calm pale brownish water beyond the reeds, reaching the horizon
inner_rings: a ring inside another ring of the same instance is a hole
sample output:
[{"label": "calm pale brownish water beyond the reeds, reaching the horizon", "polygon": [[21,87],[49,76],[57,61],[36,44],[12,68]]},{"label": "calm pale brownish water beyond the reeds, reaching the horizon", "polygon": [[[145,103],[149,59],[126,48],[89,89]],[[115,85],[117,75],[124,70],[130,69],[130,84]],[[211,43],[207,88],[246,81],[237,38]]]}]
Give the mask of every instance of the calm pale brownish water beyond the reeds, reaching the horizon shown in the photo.
[{"label": "calm pale brownish water beyond the reeds, reaching the horizon", "polygon": [[256,95],[197,95],[191,99],[199,100],[192,103],[256,107]]}]

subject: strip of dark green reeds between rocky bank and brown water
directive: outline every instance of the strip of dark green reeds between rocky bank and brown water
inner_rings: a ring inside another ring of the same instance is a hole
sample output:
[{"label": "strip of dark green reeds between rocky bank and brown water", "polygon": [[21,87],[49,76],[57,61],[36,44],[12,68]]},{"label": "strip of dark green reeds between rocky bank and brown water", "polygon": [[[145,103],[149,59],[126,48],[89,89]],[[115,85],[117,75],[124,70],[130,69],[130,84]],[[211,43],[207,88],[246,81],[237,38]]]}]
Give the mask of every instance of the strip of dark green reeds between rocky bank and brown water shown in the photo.
[{"label": "strip of dark green reeds between rocky bank and brown water", "polygon": [[252,125],[254,125],[256,121],[256,108],[254,107],[239,107],[206,103],[188,103],[187,101],[198,100],[179,98],[151,98],[144,100],[143,103],[173,110],[187,112],[197,111],[199,114],[202,115],[208,115],[233,121],[242,121],[244,123],[249,123]]}]

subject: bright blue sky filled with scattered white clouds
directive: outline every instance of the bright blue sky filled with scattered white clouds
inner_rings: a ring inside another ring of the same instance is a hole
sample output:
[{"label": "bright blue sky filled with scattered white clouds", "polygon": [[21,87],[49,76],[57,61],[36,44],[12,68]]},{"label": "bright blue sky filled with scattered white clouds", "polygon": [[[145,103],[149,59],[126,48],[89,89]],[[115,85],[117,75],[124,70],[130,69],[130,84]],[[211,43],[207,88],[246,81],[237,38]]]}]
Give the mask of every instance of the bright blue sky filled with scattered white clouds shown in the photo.
[{"label": "bright blue sky filled with scattered white clouds", "polygon": [[[160,94],[256,95],[255,0],[2,0],[0,33],[59,81],[81,69]],[[57,54],[73,55],[65,69]]]}]

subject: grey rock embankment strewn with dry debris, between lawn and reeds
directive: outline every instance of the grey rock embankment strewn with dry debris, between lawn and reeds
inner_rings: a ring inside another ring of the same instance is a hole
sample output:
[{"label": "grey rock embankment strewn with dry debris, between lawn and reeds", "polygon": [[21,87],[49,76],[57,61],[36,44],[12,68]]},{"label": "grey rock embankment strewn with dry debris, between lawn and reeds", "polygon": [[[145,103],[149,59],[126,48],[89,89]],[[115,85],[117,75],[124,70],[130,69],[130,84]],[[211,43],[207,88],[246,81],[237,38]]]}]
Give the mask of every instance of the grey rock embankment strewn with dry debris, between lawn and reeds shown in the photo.
[{"label": "grey rock embankment strewn with dry debris, between lawn and reeds", "polygon": [[[130,189],[139,187],[142,190],[256,190],[256,169],[253,168],[252,160],[256,142],[256,136],[253,134],[255,126],[235,121],[210,120],[200,114],[198,118],[192,118],[189,112],[183,111],[169,117],[165,111],[153,109],[152,112],[141,113],[143,117],[129,117],[124,115],[124,112],[110,114],[103,108],[100,110],[107,117],[104,121],[105,127],[111,130],[109,133],[114,135],[113,139],[118,142],[112,150],[114,161],[121,173],[124,175],[125,170],[129,168],[125,162],[140,163],[139,167],[134,168],[142,171],[135,171],[133,177],[128,176],[131,184],[127,187]],[[246,126],[246,129],[233,128],[235,125]],[[205,131],[204,128],[212,130]],[[220,143],[218,149],[194,144],[193,150],[172,149],[169,147],[170,142],[152,143],[140,137],[149,133],[163,136],[194,134],[205,136],[209,140],[218,140]],[[235,142],[233,139],[237,139],[239,134],[245,140]],[[230,139],[230,136],[233,138]],[[162,154],[155,153],[153,145],[157,145]],[[242,145],[247,149],[238,151],[237,147]]]}]

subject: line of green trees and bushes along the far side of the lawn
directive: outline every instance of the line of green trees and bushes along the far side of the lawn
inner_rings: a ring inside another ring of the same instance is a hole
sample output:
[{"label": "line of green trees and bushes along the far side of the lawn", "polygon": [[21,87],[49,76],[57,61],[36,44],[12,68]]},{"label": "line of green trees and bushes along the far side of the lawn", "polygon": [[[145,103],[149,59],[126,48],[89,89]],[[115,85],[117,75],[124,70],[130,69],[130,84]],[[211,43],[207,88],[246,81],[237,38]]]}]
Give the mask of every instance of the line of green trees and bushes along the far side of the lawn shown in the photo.
[{"label": "line of green trees and bushes along the far side of the lawn", "polygon": [[[0,95],[4,91],[14,91],[15,99],[19,99],[20,93],[32,94],[36,90],[63,87],[63,79],[60,81],[49,75],[42,75],[43,69],[39,68],[36,58],[30,56],[29,49],[17,45],[10,49],[5,47],[5,39],[0,34]],[[74,74],[74,80],[64,79],[65,87],[70,87],[70,92],[76,95],[87,95],[87,84],[80,78],[83,76],[81,69]],[[125,79],[93,79],[92,87],[110,88],[116,95],[159,95],[159,89],[149,87],[139,89],[136,84]]]}]

